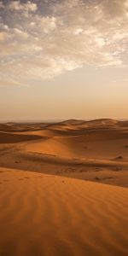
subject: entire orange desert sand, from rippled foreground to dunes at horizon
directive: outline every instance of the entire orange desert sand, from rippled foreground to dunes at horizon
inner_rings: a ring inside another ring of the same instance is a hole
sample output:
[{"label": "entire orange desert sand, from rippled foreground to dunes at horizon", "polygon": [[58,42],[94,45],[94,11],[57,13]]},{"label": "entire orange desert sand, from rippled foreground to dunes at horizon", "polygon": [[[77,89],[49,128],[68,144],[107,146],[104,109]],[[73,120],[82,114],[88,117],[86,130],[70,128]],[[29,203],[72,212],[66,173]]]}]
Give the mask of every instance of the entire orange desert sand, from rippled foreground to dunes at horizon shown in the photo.
[{"label": "entire orange desert sand, from rippled foreground to dunes at horizon", "polygon": [[128,255],[128,122],[0,125],[0,256]]}]

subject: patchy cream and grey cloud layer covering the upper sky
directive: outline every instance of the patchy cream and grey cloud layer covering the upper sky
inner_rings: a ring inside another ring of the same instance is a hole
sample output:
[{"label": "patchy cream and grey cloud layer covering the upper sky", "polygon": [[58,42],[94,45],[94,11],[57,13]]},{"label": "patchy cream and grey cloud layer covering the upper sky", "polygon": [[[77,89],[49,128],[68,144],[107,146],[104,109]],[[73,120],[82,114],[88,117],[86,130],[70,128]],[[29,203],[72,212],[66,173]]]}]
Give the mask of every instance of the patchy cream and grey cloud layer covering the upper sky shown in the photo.
[{"label": "patchy cream and grey cloud layer covering the upper sky", "polygon": [[6,3],[0,19],[1,74],[20,83],[84,65],[128,66],[127,19],[128,0]]}]

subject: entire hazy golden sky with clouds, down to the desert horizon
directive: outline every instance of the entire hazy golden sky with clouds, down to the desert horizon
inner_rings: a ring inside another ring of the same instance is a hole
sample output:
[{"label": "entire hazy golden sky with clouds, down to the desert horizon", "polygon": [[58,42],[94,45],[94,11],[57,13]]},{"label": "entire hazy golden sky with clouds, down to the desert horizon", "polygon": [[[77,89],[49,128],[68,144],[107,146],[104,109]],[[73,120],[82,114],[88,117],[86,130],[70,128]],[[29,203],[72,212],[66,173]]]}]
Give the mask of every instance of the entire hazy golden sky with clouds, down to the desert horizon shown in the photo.
[{"label": "entire hazy golden sky with clouds, down to the desert horizon", "polygon": [[128,0],[0,0],[0,120],[128,119]]}]

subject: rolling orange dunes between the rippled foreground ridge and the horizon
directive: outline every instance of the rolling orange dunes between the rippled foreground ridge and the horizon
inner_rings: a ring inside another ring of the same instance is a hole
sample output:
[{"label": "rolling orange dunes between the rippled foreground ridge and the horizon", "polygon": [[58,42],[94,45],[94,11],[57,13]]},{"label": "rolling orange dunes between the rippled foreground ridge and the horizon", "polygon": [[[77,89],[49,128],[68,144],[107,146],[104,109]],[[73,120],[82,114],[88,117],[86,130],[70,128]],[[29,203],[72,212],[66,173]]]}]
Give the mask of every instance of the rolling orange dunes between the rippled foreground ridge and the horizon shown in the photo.
[{"label": "rolling orange dunes between the rippled foreground ridge and the horizon", "polygon": [[1,124],[0,166],[128,187],[128,123]]}]

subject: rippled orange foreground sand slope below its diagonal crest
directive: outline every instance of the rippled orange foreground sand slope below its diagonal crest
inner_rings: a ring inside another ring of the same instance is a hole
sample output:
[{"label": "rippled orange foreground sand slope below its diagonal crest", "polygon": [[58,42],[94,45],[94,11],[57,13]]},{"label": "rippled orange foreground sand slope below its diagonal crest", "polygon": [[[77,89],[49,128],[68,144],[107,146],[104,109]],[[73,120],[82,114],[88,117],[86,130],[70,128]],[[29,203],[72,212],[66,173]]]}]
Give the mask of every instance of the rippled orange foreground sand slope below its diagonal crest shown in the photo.
[{"label": "rippled orange foreground sand slope below its diagonal crest", "polygon": [[0,168],[1,256],[128,255],[128,189]]}]

